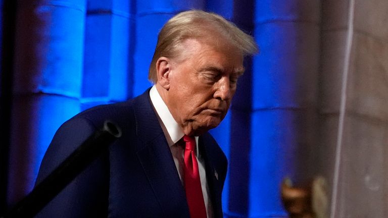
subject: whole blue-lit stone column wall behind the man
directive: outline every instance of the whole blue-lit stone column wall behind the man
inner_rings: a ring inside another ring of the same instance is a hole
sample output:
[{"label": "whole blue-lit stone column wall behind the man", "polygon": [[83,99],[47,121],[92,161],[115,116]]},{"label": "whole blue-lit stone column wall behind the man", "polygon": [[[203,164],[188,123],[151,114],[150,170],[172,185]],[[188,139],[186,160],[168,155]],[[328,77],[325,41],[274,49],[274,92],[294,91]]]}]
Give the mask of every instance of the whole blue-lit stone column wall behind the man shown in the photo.
[{"label": "whole blue-lit stone column wall behind the man", "polygon": [[[261,49],[260,55],[246,60],[247,71],[231,110],[211,130],[229,160],[225,215],[285,216],[279,196],[282,178],[303,181],[310,172],[300,174],[296,169],[303,166],[297,161],[298,149],[306,148],[309,154],[307,145],[314,134],[315,90],[300,87],[315,81],[318,70],[318,54],[306,52],[319,49],[319,16],[309,12],[319,11],[317,1],[310,1],[308,7],[294,5],[306,1],[253,0],[20,2],[10,205],[32,189],[58,127],[90,106],[122,101],[151,86],[148,68],[160,28],[180,11],[203,9],[253,34]],[[300,55],[304,52],[309,57]],[[310,64],[295,65],[305,61]],[[313,78],[305,80],[305,75]]]}]

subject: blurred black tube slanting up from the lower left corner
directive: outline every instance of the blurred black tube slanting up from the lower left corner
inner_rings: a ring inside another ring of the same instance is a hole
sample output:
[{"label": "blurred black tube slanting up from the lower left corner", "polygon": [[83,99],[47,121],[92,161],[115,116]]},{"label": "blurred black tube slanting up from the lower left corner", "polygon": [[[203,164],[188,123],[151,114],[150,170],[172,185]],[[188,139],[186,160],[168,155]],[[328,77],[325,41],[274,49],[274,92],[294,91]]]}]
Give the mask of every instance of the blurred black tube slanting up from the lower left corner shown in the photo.
[{"label": "blurred black tube slanting up from the lower left corner", "polygon": [[121,129],[115,123],[105,121],[101,130],[96,130],[89,136],[49,176],[36,185],[25,198],[2,218],[32,217],[36,215],[121,135]]}]

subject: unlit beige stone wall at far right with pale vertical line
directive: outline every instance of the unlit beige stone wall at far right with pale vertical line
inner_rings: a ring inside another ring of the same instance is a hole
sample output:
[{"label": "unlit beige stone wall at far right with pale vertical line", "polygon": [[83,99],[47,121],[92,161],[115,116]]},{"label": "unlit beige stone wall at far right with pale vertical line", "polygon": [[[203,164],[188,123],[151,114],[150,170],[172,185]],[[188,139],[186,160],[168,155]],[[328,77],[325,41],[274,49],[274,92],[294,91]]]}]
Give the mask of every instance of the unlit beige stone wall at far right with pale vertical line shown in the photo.
[{"label": "unlit beige stone wall at far right with pale vertical line", "polygon": [[[352,8],[352,6],[354,6]],[[322,2],[318,171],[337,190],[334,217],[388,215],[388,1]],[[353,10],[354,19],[349,19]],[[349,27],[352,34],[348,37]],[[351,40],[347,60],[347,41]],[[341,149],[338,124],[349,63]],[[335,153],[341,151],[338,185]],[[335,197],[335,196],[331,196]],[[330,198],[329,198],[330,199]]]}]

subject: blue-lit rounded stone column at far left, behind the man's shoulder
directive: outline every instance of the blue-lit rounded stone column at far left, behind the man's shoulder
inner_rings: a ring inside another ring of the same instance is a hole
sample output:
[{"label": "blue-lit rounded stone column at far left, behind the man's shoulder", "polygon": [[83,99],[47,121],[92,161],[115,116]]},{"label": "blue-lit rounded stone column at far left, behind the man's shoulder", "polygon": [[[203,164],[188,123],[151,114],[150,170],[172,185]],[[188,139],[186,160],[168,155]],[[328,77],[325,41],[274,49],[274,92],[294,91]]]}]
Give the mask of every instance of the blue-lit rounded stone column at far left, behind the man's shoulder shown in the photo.
[{"label": "blue-lit rounded stone column at far left, behind the man's shoulder", "polygon": [[85,1],[19,1],[9,203],[28,193],[54,131],[79,112]]}]

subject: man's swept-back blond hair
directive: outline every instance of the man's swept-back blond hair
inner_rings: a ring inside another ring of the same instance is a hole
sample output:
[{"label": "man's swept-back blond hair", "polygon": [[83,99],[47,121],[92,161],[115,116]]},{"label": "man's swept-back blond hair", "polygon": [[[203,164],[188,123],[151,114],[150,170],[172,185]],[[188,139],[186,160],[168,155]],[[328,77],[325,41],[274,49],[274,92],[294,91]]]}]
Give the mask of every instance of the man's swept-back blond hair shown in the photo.
[{"label": "man's swept-back blond hair", "polygon": [[258,48],[252,36],[244,33],[225,18],[200,10],[181,12],[172,17],[160,30],[148,78],[156,83],[156,62],[160,57],[175,58],[181,54],[181,43],[187,38],[225,37],[228,42],[240,49],[243,57],[254,55]]}]

